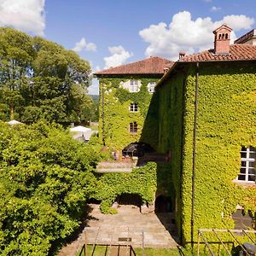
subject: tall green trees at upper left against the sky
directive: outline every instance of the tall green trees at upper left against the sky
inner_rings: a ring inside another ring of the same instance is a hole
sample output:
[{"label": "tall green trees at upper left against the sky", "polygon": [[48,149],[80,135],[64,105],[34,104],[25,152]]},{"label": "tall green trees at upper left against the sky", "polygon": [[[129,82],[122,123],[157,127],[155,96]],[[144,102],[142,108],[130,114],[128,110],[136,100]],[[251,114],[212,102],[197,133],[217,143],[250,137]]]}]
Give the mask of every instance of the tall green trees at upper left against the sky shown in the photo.
[{"label": "tall green trees at upper left against the sky", "polygon": [[0,27],[0,119],[90,120],[89,85],[90,64],[72,50]]}]

